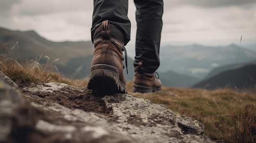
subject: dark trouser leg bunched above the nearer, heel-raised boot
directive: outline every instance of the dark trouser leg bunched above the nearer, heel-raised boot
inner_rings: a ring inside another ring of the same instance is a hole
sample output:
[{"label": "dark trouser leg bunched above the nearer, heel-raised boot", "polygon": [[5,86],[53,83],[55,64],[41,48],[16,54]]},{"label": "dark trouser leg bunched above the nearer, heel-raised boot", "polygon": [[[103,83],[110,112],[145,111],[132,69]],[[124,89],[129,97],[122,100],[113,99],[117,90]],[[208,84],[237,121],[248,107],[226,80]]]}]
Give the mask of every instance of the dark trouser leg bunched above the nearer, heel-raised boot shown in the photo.
[{"label": "dark trouser leg bunched above the nearer, heel-raised boot", "polygon": [[94,31],[104,20],[109,20],[124,35],[125,45],[130,41],[130,20],[127,17],[128,0],[94,0],[92,15],[92,42],[94,40]]}]

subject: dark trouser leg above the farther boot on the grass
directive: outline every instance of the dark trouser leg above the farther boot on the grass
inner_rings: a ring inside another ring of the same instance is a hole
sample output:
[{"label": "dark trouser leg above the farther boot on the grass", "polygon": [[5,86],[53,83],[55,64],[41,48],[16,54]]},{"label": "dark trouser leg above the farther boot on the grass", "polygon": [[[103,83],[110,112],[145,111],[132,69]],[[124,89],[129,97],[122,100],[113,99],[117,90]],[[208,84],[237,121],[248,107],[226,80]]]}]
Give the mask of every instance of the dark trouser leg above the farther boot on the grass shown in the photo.
[{"label": "dark trouser leg above the farther boot on the grass", "polygon": [[159,67],[159,46],[162,32],[163,0],[134,0],[137,21],[134,66],[143,63],[153,73]]}]

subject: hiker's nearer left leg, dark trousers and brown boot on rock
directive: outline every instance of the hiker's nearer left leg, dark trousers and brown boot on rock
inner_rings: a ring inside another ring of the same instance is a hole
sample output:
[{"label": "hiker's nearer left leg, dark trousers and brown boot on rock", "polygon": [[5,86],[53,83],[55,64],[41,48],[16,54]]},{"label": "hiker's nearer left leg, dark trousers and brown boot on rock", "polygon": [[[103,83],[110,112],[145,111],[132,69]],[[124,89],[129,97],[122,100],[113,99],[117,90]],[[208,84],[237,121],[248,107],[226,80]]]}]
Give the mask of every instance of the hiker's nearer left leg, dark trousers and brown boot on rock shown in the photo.
[{"label": "hiker's nearer left leg, dark trousers and brown boot on rock", "polygon": [[127,93],[123,51],[130,40],[128,0],[94,0],[92,42],[94,54],[88,89],[104,94]]}]

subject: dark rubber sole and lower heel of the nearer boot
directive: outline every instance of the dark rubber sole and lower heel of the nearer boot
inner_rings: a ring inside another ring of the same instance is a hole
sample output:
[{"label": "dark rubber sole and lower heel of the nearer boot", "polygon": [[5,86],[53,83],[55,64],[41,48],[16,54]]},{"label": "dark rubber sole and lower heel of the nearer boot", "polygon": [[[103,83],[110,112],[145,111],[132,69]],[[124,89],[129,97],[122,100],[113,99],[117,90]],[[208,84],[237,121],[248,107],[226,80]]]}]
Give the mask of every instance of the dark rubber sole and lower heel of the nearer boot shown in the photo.
[{"label": "dark rubber sole and lower heel of the nearer boot", "polygon": [[119,71],[115,66],[96,64],[91,67],[88,89],[106,94],[127,93],[126,86],[119,80]]}]

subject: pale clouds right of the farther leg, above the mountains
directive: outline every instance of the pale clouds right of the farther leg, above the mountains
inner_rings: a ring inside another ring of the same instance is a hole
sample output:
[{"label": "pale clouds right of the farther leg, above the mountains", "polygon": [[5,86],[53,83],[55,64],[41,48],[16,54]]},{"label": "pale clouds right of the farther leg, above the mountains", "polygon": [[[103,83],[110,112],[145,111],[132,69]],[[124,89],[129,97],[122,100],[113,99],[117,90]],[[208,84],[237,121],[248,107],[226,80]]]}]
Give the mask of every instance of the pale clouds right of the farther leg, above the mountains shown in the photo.
[{"label": "pale clouds right of the farther leg, above the mountains", "polygon": [[209,8],[189,4],[167,8],[168,5],[163,15],[162,43],[223,45],[239,44],[241,35],[256,38],[256,3],[247,9],[238,5]]}]

